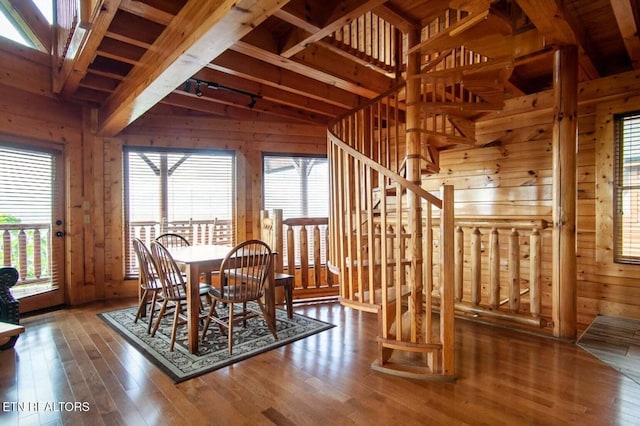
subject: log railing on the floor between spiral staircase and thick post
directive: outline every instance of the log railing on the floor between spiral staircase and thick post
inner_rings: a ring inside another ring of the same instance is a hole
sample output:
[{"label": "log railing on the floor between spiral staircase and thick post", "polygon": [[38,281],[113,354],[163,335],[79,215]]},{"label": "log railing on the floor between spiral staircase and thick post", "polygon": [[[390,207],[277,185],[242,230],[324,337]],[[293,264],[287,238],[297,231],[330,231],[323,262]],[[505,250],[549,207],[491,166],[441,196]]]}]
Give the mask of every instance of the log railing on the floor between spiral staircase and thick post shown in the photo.
[{"label": "log railing on the floor between spiral staircase and thick post", "polygon": [[549,222],[458,217],[455,227],[456,311],[532,330],[549,327],[551,277],[542,263],[551,251]]}]

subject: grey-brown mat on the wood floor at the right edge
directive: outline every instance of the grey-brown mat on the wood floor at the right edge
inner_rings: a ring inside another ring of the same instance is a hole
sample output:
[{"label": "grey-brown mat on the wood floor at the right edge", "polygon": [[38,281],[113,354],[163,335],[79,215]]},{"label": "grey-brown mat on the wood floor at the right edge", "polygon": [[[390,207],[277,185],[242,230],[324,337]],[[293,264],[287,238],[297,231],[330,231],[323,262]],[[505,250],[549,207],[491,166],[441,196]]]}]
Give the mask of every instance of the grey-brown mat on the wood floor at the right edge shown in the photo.
[{"label": "grey-brown mat on the wood floor at the right edge", "polygon": [[597,316],[577,344],[640,384],[640,320]]}]

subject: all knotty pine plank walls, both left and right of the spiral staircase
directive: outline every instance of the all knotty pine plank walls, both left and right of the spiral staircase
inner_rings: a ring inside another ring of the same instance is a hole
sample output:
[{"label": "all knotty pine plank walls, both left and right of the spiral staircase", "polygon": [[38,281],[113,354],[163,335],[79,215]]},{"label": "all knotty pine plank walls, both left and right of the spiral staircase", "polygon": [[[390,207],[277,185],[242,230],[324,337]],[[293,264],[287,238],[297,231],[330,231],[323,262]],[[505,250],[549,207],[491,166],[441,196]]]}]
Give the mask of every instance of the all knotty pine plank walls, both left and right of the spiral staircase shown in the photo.
[{"label": "all knotty pine plank walls, both left and right of the spiral staircase", "polygon": [[[0,41],[0,135],[14,144],[62,149],[67,210],[67,302],[133,295],[123,284],[122,146],[182,146],[238,152],[239,238],[258,235],[261,153],[325,153],[326,130],[305,125],[176,116],[158,107],[116,138],[91,136],[91,112],[51,91],[49,57]],[[612,114],[640,109],[640,72],[579,85],[578,321],[598,313],[640,318],[640,267],[611,260]],[[456,214],[551,220],[551,92],[507,101],[476,126],[477,145],[441,155],[424,184],[455,187]],[[543,297],[551,253],[542,253]]]}]

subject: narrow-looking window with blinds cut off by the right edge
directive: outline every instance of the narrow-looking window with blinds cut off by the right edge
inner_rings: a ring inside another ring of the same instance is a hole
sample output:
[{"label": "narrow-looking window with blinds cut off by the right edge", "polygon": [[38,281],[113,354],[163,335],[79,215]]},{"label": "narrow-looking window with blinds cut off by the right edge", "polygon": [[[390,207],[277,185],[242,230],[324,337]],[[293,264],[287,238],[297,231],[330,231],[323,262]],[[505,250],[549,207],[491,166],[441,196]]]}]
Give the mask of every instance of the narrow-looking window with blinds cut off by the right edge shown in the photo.
[{"label": "narrow-looking window with blinds cut off by the right edge", "polygon": [[640,112],[616,116],[614,261],[640,264]]}]

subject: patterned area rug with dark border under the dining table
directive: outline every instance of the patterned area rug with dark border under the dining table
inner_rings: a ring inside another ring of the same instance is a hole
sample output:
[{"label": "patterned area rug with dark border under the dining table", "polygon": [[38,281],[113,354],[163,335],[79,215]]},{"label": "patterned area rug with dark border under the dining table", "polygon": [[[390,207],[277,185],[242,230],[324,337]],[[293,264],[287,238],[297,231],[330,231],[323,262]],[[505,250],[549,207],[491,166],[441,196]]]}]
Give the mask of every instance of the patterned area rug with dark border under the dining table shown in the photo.
[{"label": "patterned area rug with dark border under the dining table", "polygon": [[[257,305],[254,308],[258,309]],[[224,313],[221,309],[218,309],[218,312]],[[199,353],[191,354],[186,346],[185,326],[178,327],[175,348],[173,352],[169,351],[173,315],[165,316],[158,332],[151,337],[147,334],[145,318],[137,323],[133,322],[135,313],[136,308],[130,307],[104,312],[98,316],[176,383],[334,327],[333,324],[296,313],[289,319],[286,311],[276,309],[278,340],[273,338],[262,318],[252,318],[247,322],[246,328],[241,324],[234,326],[233,355],[229,356],[227,336],[215,323],[211,323],[205,341],[199,344]]]}]

